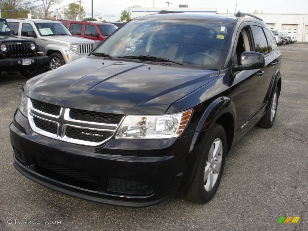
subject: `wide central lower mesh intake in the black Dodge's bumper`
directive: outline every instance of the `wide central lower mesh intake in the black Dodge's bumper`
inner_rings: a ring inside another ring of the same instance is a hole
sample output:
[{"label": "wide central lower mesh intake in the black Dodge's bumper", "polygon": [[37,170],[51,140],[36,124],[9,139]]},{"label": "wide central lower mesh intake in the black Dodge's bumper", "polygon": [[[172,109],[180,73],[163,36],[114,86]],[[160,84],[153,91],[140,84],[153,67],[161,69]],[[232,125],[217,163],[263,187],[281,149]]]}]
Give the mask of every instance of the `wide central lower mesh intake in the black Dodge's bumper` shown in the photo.
[{"label": "wide central lower mesh intake in the black Dodge's bumper", "polygon": [[51,170],[53,172],[57,172],[59,174],[62,174],[64,176],[70,176],[79,180],[84,180],[87,182],[92,182],[97,184],[99,182],[99,176],[96,176],[90,172],[80,171],[74,168],[70,168],[67,166],[63,166],[61,164],[56,164],[53,162],[50,162],[48,160],[43,160],[40,158],[35,158],[35,162],[37,165],[46,168],[48,170]]}]

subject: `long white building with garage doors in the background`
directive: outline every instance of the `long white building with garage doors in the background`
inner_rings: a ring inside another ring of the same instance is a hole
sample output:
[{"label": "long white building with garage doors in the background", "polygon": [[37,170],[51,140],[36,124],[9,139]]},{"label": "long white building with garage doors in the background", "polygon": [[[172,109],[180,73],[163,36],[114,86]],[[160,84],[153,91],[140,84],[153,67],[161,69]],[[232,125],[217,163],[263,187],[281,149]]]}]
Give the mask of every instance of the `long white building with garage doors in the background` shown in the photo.
[{"label": "long white building with garage doors in the background", "polygon": [[[217,8],[188,8],[187,5],[180,5],[182,7],[172,8],[153,8],[134,6],[131,8],[131,17],[146,14],[156,14],[160,10],[179,11],[184,13],[207,13],[218,14]],[[233,14],[228,14],[233,15]],[[253,14],[270,27],[271,30],[285,31],[290,35],[295,35],[298,42],[308,42],[308,14]]]}]

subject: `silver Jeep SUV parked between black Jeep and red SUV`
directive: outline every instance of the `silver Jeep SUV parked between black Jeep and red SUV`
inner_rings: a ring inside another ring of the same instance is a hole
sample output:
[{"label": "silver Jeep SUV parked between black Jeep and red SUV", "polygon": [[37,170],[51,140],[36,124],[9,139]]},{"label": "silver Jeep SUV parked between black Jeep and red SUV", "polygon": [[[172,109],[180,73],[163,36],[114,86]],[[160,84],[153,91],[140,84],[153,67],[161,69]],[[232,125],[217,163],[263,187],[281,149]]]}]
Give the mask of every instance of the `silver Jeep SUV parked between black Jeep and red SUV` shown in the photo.
[{"label": "silver Jeep SUV parked between black Jeep and red SUV", "polygon": [[73,36],[62,22],[43,19],[7,19],[15,36],[33,39],[38,53],[47,55],[48,68],[53,70],[66,63],[87,56],[93,40]]}]

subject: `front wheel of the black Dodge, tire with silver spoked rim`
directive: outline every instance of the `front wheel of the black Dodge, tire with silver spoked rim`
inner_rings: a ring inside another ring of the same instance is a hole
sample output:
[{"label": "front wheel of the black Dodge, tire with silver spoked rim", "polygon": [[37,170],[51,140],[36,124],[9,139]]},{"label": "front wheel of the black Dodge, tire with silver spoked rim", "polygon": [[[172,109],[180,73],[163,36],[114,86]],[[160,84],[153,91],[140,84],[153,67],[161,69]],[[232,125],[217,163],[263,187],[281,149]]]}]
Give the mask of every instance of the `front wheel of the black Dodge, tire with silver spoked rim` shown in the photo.
[{"label": "front wheel of the black Dodge, tire with silver spoked rim", "polygon": [[210,201],[220,183],[227,153],[224,128],[214,124],[203,142],[195,175],[186,191],[186,199],[197,204]]}]

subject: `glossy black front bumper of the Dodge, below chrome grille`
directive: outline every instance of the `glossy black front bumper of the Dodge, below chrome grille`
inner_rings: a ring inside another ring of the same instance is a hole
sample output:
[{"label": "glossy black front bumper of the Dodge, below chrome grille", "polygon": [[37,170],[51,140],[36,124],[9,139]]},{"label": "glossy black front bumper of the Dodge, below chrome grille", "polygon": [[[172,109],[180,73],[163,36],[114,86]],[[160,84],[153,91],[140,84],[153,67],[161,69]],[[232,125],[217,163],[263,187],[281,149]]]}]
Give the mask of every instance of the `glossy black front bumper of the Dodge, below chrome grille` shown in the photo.
[{"label": "glossy black front bumper of the Dodge, below chrome grille", "polygon": [[111,139],[88,147],[33,132],[18,110],[10,124],[14,167],[24,176],[71,196],[131,207],[154,205],[180,193],[183,179],[190,179],[186,169],[193,135]]}]

